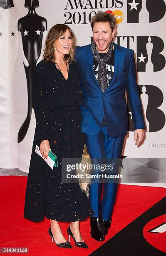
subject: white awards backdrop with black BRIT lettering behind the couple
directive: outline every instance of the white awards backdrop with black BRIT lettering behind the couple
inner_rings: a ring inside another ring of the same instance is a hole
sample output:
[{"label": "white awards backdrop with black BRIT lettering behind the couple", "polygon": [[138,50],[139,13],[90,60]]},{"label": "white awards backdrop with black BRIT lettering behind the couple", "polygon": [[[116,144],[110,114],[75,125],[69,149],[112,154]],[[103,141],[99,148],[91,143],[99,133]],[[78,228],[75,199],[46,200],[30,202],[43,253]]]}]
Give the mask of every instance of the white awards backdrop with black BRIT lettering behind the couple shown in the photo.
[{"label": "white awards backdrop with black BRIT lettering behind the couple", "polygon": [[[144,159],[147,168],[160,167],[164,172],[166,0],[0,0],[0,168],[28,172],[35,132],[32,77],[49,29],[65,23],[74,31],[77,46],[90,44],[89,21],[98,12],[114,13],[114,42],[135,53],[146,139],[140,147],[135,146],[128,104],[129,135],[123,156]],[[154,159],[154,166],[149,159]],[[160,159],[157,167],[155,159]],[[151,182],[165,183],[159,173]]]}]

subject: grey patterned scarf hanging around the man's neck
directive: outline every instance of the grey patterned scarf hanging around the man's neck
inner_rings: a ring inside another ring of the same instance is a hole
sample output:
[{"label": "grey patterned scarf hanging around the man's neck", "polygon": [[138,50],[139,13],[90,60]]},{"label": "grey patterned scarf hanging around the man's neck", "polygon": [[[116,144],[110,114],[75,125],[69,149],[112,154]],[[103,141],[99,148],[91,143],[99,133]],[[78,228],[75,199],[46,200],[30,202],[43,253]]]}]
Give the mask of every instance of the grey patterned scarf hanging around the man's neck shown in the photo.
[{"label": "grey patterned scarf hanging around the man's neck", "polygon": [[94,41],[92,41],[92,53],[97,63],[99,63],[97,82],[99,83],[103,92],[105,92],[108,87],[106,62],[111,58],[113,47],[114,44],[113,41],[111,41],[107,54],[104,56],[104,58],[101,59],[100,54],[96,49],[96,44],[94,43]]}]

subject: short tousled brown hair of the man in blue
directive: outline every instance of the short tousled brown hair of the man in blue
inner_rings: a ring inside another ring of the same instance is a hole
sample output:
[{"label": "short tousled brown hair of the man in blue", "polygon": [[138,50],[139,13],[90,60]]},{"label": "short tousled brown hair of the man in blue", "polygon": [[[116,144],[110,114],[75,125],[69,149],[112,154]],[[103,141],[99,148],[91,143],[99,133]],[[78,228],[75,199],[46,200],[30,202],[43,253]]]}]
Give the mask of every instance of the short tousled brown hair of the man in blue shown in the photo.
[{"label": "short tousled brown hair of the man in blue", "polygon": [[113,31],[115,28],[115,17],[113,14],[111,13],[97,13],[96,15],[94,15],[91,19],[91,27],[93,30],[93,26],[95,22],[109,22],[110,28]]}]

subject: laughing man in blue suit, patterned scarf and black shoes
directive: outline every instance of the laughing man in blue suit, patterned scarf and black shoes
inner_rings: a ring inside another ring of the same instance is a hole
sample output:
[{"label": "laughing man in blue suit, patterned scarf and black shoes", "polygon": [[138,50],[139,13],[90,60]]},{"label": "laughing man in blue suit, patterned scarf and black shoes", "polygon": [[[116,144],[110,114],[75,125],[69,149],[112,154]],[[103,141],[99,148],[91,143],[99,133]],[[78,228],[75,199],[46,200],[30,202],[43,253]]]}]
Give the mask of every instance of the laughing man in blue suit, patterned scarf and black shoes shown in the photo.
[{"label": "laughing man in blue suit, patterned scarf and black shoes", "polygon": [[[113,43],[115,18],[97,13],[91,20],[92,44],[76,49],[82,89],[82,132],[91,159],[120,159],[127,134],[125,91],[134,121],[134,141],[144,137],[144,115],[136,83],[134,51]],[[89,198],[95,214],[90,218],[91,236],[104,241],[118,184],[92,182]],[[102,197],[102,201],[101,201]]]}]

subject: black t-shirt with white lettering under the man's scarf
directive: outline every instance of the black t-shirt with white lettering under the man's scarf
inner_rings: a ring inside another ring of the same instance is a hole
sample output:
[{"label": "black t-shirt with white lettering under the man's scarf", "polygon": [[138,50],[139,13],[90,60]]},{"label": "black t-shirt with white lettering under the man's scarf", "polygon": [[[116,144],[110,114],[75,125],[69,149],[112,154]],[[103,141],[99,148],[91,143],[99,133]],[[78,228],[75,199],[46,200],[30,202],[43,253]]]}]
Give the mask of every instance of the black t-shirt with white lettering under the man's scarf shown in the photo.
[{"label": "black t-shirt with white lettering under the man's scarf", "polygon": [[[114,52],[115,52],[115,50],[112,51],[111,58],[108,61],[106,61],[108,86],[114,76]],[[101,59],[104,58],[104,56],[106,55],[106,54],[102,54],[102,53],[99,53],[99,54],[100,54]],[[93,70],[94,70],[95,77],[97,79],[99,64],[97,63],[97,61],[95,59],[93,59]]]}]

